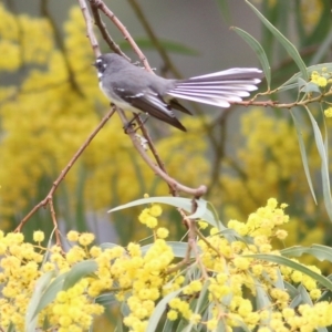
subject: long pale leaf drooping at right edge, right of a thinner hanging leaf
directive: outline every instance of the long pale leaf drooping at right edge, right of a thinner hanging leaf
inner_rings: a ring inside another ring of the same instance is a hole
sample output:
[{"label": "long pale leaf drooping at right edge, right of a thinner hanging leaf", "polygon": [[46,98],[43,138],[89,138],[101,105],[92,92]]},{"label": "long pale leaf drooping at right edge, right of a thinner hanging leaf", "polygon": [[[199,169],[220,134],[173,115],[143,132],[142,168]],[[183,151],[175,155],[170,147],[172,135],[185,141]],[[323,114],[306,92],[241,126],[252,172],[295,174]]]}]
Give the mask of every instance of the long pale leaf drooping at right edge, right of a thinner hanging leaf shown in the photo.
[{"label": "long pale leaf drooping at right edge, right of a thinner hanging leaf", "polygon": [[[324,204],[325,209],[329,215],[330,220],[332,221],[332,197],[330,191],[330,175],[329,175],[329,158],[328,158],[328,151],[325,149],[325,145],[323,142],[322,133],[317,124],[317,121],[310,113],[309,108],[304,106],[304,108],[308,112],[308,115],[310,117],[313,134],[314,134],[314,141],[318,148],[318,152],[321,157],[321,175],[322,175],[322,186],[323,186],[323,196],[324,196]],[[328,134],[328,133],[326,133]]]}]

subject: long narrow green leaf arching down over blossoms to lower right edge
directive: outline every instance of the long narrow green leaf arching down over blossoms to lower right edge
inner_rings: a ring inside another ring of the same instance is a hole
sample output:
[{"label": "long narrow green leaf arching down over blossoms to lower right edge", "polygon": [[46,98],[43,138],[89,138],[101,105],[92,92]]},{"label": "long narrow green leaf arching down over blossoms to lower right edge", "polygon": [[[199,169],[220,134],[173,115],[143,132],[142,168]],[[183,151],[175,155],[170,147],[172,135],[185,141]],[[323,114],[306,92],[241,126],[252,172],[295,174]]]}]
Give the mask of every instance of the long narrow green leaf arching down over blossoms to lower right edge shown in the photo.
[{"label": "long narrow green leaf arching down over blossoms to lower right edge", "polygon": [[319,282],[323,287],[328,288],[329,290],[332,290],[332,282],[328,278],[310,270],[309,268],[302,266],[301,263],[290,260],[289,258],[286,258],[282,256],[277,256],[277,255],[267,255],[267,253],[243,255],[243,257],[262,259],[262,260],[276,262],[277,264],[289,267],[293,270],[298,270],[298,271],[311,277],[312,279],[314,279],[317,282]]}]

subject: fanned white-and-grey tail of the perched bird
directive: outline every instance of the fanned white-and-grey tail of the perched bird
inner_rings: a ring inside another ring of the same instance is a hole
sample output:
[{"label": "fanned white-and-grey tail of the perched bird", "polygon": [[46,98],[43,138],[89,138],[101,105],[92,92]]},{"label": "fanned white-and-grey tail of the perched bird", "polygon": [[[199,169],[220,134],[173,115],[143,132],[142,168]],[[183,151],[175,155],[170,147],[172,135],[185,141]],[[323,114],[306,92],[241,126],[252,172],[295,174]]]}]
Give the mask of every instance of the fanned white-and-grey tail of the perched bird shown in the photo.
[{"label": "fanned white-and-grey tail of the perched bird", "polygon": [[232,102],[240,102],[249,92],[257,90],[262,72],[258,69],[230,69],[222,72],[178,81],[167,91],[174,97],[229,107]]}]

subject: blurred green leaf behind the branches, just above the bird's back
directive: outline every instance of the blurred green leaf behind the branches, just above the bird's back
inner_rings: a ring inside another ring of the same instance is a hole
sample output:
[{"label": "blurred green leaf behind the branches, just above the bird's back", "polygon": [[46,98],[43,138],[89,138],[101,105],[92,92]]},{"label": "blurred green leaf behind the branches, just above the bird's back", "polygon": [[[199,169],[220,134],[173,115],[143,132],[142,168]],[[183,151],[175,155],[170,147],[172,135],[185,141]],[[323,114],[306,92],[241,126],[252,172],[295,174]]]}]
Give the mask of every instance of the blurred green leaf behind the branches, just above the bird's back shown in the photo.
[{"label": "blurred green leaf behind the branches, just above the bird's back", "polygon": [[[145,37],[135,38],[135,42],[143,50],[152,50],[152,51],[156,50],[155,44]],[[196,56],[199,54],[197,50],[194,50],[189,46],[184,45],[183,43],[178,43],[172,40],[158,39],[158,42],[164,49],[166,49],[168,52],[172,53],[181,54],[181,55],[191,55],[191,56],[193,55]],[[127,41],[122,41],[118,43],[118,45],[123,51],[132,50],[132,46],[128,44]]]}]

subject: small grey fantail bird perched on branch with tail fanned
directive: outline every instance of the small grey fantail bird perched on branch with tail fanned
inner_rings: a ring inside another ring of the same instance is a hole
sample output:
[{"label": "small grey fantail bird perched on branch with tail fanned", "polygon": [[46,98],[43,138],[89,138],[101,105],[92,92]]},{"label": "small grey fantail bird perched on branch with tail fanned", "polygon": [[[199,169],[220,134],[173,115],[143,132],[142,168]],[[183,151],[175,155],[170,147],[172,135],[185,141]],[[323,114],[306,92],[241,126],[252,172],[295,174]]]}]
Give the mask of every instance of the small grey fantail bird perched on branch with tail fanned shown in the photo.
[{"label": "small grey fantail bird perched on branch with tail fanned", "polygon": [[138,68],[115,53],[100,55],[95,63],[100,87],[116,106],[147,113],[186,132],[173,108],[191,114],[176,98],[229,107],[257,90],[262,72],[255,68],[234,68],[187,80],[167,80]]}]

